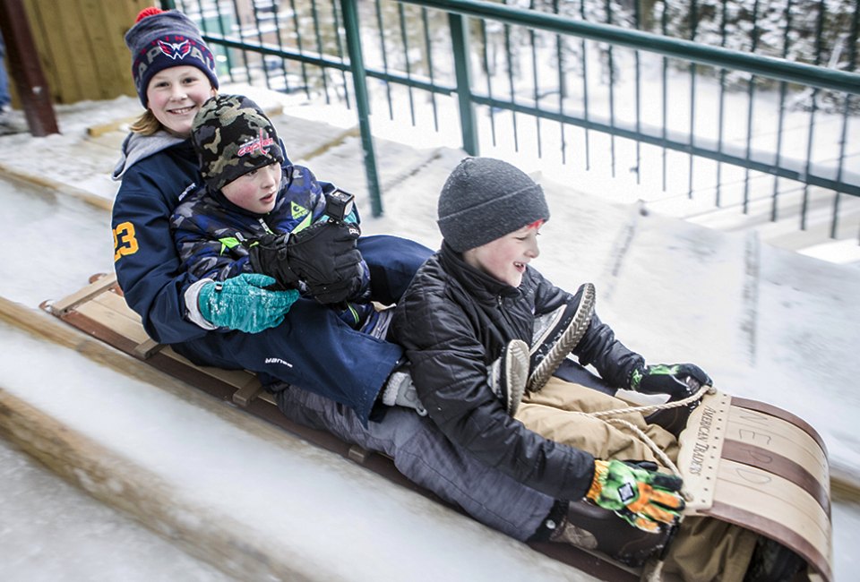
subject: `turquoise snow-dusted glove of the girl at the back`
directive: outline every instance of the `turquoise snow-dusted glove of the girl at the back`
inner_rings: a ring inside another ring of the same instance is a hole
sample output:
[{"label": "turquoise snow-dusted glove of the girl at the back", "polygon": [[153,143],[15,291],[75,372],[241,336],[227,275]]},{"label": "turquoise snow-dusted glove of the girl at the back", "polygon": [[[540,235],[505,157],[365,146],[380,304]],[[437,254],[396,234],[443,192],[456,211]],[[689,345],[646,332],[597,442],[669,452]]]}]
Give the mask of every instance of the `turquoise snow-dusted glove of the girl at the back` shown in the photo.
[{"label": "turquoise snow-dusted glove of the girl at the back", "polygon": [[204,285],[197,296],[200,314],[219,328],[257,333],[280,325],[298,299],[298,291],[270,291],[275,279],[243,273]]}]

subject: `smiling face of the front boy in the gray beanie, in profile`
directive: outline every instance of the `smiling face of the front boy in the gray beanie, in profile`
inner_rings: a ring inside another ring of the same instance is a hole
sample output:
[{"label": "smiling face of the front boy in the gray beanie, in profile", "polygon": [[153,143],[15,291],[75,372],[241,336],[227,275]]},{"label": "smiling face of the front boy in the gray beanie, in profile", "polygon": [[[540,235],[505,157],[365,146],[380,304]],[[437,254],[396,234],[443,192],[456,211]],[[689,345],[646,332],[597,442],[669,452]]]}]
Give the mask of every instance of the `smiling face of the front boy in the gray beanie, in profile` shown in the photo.
[{"label": "smiling face of the front boy in the gray beanie, in profile", "polygon": [[463,252],[463,260],[511,287],[520,287],[526,265],[537,259],[538,234],[543,221],[538,221],[487,244]]}]

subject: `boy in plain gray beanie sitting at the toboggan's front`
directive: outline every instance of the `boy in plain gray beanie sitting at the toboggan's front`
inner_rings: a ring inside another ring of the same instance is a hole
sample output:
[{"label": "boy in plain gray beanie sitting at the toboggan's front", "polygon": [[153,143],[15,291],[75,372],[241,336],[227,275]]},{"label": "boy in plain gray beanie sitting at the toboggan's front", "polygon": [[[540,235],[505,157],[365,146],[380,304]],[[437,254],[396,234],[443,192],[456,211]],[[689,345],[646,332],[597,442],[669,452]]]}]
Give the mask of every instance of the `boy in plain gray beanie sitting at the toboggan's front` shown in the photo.
[{"label": "boy in plain gray beanie sitting at the toboggan's front", "polygon": [[[711,383],[694,364],[645,364],[593,312],[593,287],[571,294],[531,266],[548,219],[543,190],[518,168],[466,158],[453,170],[438,202],[442,249],[418,270],[391,322],[418,398],[449,439],[486,465],[538,491],[583,500],[570,504],[552,539],[640,565],[677,529],[665,572],[743,579],[756,536],[708,518],[679,526],[681,478],[658,471],[660,456],[636,432],[582,414],[627,403],[555,376],[533,382],[541,364],[552,369],[573,354],[614,388],[677,399]],[[572,343],[558,353],[559,342]],[[509,382],[501,392],[487,383],[499,358]],[[674,434],[641,413],[623,418],[675,461]]]}]

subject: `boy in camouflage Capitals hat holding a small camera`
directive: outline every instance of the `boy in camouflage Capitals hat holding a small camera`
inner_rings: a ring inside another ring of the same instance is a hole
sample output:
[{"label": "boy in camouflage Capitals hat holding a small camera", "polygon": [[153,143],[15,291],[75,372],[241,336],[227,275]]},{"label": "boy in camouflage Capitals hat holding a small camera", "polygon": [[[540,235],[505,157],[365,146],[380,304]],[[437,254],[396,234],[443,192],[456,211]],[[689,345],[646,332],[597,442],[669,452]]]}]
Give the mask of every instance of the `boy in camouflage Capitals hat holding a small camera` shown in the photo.
[{"label": "boy in camouflage Capitals hat holding a small camera", "polygon": [[323,190],[334,187],[289,162],[262,109],[241,95],[210,98],[194,117],[191,140],[204,185],[171,220],[183,268],[195,280],[187,303],[201,307],[188,317],[204,328],[211,321],[207,311],[218,302],[204,295],[219,287],[206,283],[257,273],[293,290],[294,301],[305,295],[338,305],[355,329],[366,323],[375,310],[366,300],[370,274],[357,250],[357,213],[326,216]]}]

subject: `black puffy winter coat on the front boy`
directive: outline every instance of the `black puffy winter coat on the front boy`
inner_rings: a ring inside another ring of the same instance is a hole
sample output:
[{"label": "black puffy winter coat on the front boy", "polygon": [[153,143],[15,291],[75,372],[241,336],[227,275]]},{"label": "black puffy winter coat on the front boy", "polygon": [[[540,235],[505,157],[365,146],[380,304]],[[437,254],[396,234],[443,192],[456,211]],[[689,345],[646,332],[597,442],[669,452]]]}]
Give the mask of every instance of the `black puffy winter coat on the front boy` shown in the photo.
[{"label": "black puffy winter coat on the front boy", "polygon": [[[486,465],[563,500],[588,492],[594,458],[507,415],[487,369],[510,340],[531,344],[536,315],[574,300],[579,296],[531,267],[520,287],[506,285],[443,243],[418,270],[391,323],[394,341],[406,348],[418,396],[445,435]],[[573,354],[618,387],[628,385],[632,369],[643,361],[597,315]]]}]

